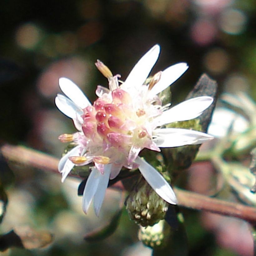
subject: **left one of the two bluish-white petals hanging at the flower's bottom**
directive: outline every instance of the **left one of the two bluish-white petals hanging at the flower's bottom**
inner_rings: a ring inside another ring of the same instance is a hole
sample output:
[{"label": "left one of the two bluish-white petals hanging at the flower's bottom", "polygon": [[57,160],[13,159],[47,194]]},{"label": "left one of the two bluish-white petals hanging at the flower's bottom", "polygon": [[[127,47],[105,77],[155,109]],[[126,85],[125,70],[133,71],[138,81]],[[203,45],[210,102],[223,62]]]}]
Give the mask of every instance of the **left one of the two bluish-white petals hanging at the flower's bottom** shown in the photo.
[{"label": "left one of the two bluish-white petals hanging at the flower's bottom", "polygon": [[86,181],[83,193],[82,208],[85,213],[87,213],[92,198],[94,197],[96,190],[98,189],[100,176],[101,173],[96,168],[92,168],[91,173]]}]

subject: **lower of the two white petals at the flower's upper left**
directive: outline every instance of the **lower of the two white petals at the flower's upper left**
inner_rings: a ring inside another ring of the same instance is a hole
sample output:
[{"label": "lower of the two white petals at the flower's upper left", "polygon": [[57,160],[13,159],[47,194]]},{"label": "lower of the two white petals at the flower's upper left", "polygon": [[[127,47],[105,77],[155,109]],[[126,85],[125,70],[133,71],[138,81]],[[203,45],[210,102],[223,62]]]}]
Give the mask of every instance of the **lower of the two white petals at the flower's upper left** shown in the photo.
[{"label": "lower of the two white petals at the flower's upper left", "polygon": [[74,119],[76,118],[76,114],[83,114],[83,111],[80,107],[78,107],[73,101],[68,99],[66,96],[61,94],[57,94],[55,98],[55,104],[57,108],[66,116]]}]

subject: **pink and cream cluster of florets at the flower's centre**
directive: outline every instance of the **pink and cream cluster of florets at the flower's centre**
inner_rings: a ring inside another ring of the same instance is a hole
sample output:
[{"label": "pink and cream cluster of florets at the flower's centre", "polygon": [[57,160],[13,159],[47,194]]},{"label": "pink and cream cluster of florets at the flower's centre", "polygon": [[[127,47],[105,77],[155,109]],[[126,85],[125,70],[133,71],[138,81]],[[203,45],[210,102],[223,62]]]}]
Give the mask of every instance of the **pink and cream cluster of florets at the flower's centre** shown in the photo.
[{"label": "pink and cream cluster of florets at the flower's centre", "polygon": [[148,116],[132,103],[130,94],[118,88],[86,107],[82,130],[89,143],[105,151],[115,148],[126,155],[132,146],[144,148],[150,139],[145,129]]}]

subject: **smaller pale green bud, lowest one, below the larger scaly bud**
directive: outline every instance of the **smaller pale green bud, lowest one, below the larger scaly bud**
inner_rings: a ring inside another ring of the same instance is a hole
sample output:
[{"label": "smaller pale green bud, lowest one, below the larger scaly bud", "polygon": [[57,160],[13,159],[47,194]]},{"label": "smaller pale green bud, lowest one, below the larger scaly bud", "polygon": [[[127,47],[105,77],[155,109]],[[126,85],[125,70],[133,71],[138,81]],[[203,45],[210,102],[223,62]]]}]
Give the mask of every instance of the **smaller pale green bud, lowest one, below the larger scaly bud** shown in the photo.
[{"label": "smaller pale green bud, lowest one, below the larger scaly bud", "polygon": [[160,220],[153,226],[141,227],[138,234],[139,240],[152,249],[165,247],[170,237],[170,226],[165,220]]}]

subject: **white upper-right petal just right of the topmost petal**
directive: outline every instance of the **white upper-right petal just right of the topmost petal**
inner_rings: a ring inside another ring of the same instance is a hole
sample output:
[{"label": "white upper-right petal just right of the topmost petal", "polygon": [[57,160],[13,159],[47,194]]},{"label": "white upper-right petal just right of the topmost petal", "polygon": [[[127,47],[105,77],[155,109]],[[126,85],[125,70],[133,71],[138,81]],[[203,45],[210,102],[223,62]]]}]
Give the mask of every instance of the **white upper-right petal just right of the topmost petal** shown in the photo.
[{"label": "white upper-right petal just right of the topmost petal", "polygon": [[155,86],[150,90],[149,96],[154,96],[165,90],[168,86],[174,83],[187,69],[188,65],[184,62],[166,68],[164,71],[162,71],[158,83],[156,83]]}]

